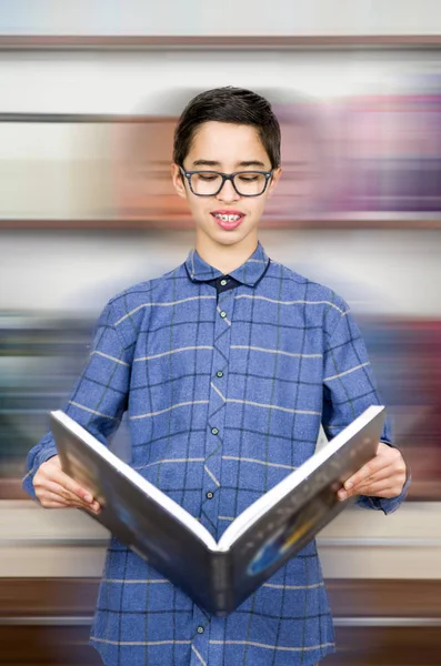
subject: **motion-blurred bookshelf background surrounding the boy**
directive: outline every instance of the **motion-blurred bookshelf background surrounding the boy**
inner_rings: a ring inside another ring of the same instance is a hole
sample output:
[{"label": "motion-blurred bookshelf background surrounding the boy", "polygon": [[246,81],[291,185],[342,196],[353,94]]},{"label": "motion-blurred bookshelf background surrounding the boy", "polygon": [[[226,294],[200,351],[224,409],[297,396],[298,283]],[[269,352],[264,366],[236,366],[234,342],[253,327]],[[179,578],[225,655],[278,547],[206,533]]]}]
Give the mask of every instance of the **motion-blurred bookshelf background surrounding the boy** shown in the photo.
[{"label": "motion-blurred bookshelf background surrounding the boy", "polygon": [[[186,259],[174,124],[231,84],[282,129],[261,241],[350,303],[413,475],[397,514],[350,509],[318,541],[324,662],[441,665],[441,7],[167,4],[0,0],[0,664],[99,663],[108,536],[29,501],[24,457],[107,300]],[[112,446],[130,455],[123,427]]]}]

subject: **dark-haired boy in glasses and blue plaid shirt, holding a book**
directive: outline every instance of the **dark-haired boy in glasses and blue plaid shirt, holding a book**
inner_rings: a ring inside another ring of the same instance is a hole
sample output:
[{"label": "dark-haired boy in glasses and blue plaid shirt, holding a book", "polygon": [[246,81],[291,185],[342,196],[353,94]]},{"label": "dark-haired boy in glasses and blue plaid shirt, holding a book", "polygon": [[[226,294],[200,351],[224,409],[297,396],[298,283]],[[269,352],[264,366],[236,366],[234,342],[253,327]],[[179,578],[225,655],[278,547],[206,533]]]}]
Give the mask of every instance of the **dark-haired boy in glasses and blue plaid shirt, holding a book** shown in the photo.
[{"label": "dark-haired boy in glasses and blue plaid shirt, holding a book", "polygon": [[[258,241],[281,175],[280,129],[242,89],[197,95],[174,135],[172,180],[196,249],[112,299],[67,413],[102,442],[128,411],[132,466],[219,539],[228,524],[329,437],[379,404],[345,302],[271,261]],[[98,503],[64,475],[48,434],[26,490],[46,507]],[[340,497],[394,511],[405,465],[389,424]],[[315,542],[225,618],[210,617],[111,539],[91,644],[107,666],[311,666],[334,650]]]}]

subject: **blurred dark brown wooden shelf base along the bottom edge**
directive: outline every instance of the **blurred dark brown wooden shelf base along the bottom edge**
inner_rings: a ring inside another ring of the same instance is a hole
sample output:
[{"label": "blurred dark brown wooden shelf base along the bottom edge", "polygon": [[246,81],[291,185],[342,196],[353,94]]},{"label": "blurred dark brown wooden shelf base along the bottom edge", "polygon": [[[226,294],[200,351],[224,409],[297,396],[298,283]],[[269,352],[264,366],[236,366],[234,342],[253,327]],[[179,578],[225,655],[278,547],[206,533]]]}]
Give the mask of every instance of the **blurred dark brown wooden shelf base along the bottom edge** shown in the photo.
[{"label": "blurred dark brown wooden shelf base along the bottom edge", "polygon": [[[0,665],[101,664],[88,645],[98,583],[96,578],[0,578]],[[440,666],[441,626],[412,622],[441,618],[441,581],[333,579],[327,587],[337,619],[338,653],[328,656],[324,665]],[[340,626],[343,618],[354,626]],[[383,624],[355,626],[375,618]],[[407,619],[410,626],[387,626],[388,618],[392,625]]]}]

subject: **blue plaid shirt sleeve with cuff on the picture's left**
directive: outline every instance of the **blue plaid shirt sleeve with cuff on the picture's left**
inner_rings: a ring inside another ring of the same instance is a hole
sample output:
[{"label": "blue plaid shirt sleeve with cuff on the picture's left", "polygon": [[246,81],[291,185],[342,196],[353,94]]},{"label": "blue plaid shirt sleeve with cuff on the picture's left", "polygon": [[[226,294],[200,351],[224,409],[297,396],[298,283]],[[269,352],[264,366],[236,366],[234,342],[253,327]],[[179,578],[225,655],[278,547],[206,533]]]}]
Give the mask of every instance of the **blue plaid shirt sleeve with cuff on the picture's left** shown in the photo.
[{"label": "blue plaid shirt sleeve with cuff on the picture's left", "polygon": [[[67,404],[66,414],[88,430],[100,442],[119,426],[126,411],[131,360],[113,325],[111,303],[99,317],[92,351]],[[37,500],[33,477],[39,466],[57,455],[52,433],[46,434],[28,453],[24,491]]]}]

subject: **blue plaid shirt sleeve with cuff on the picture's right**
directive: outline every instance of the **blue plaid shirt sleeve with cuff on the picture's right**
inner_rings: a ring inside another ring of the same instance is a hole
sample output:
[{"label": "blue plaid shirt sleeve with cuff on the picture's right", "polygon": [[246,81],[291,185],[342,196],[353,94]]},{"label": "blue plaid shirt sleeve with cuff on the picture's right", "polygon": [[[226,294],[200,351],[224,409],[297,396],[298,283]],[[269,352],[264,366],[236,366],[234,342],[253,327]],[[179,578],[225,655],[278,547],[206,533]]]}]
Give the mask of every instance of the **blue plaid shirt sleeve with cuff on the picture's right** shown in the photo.
[{"label": "blue plaid shirt sleeve with cuff on the picture's right", "polygon": [[[348,306],[324,343],[323,362],[322,425],[327,437],[331,440],[370,405],[382,404],[364,341]],[[380,442],[394,446],[388,416]],[[410,482],[410,474],[408,474],[402,491],[397,497],[361,495],[357,504],[363,508],[392,513],[405,498]]]}]

